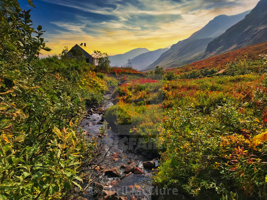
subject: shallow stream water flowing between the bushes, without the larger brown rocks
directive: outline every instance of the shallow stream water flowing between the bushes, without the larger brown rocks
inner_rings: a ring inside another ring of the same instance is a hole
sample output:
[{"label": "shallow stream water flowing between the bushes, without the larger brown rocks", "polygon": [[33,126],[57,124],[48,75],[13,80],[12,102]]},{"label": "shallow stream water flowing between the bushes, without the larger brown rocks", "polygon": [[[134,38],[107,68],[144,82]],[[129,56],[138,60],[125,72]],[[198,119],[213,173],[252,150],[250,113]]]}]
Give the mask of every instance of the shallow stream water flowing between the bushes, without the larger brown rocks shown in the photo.
[{"label": "shallow stream water flowing between the bushes, without the larger brown rocks", "polygon": [[[114,91],[114,87],[110,86],[109,91],[104,95],[104,101],[99,105],[87,105],[87,111],[93,108],[96,113],[87,114],[81,122],[83,130],[87,131],[87,134],[92,134],[94,137],[98,137],[99,128],[103,126],[100,122],[103,122],[103,110],[113,105],[111,94]],[[99,111],[101,109],[101,111]],[[107,125],[109,127],[109,125]],[[126,131],[125,131],[126,132]],[[108,157],[115,155],[117,161],[112,163],[109,168],[116,167],[120,173],[119,177],[113,177],[110,175],[104,175],[99,177],[96,182],[104,185],[104,190],[116,191],[118,196],[127,197],[128,200],[151,200],[151,193],[153,190],[153,182],[150,178],[153,175],[153,171],[145,169],[143,162],[151,161],[157,158],[157,155],[150,155],[144,152],[144,150],[136,150],[129,144],[128,133],[120,133],[115,127],[107,130],[108,137],[104,140],[105,149],[109,150]],[[131,138],[132,139],[132,138]],[[124,168],[121,165],[129,165],[130,162],[135,162],[136,167],[139,167],[144,174],[129,174],[124,178]],[[156,161],[156,166],[158,165]],[[83,194],[84,199],[95,199],[95,195],[92,194],[92,187],[88,188],[87,194]],[[126,199],[126,198],[125,198]]]}]

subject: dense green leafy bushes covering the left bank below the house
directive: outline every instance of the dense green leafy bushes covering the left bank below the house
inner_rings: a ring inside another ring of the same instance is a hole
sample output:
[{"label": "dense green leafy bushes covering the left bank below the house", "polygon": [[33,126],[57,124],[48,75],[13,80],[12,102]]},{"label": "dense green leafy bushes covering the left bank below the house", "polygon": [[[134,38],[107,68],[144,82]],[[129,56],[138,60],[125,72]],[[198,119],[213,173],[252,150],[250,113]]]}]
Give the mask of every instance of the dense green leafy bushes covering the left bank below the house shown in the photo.
[{"label": "dense green leafy bushes covering the left bank below the house", "polygon": [[2,1],[0,10],[0,199],[62,199],[81,188],[81,168],[98,148],[79,122],[85,100],[103,97],[104,83],[81,80],[91,66],[76,58],[40,60],[50,49],[41,26],[31,36],[30,10],[17,1]]}]

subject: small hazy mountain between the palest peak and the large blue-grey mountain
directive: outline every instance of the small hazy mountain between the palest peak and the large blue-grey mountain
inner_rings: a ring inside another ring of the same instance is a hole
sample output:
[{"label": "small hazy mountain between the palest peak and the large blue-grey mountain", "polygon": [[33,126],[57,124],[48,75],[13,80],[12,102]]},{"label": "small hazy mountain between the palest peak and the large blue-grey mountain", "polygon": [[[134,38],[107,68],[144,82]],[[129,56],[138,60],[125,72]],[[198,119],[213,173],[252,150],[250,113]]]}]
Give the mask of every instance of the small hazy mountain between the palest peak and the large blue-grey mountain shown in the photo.
[{"label": "small hazy mountain between the palest peak and the large blue-grey mountain", "polygon": [[[165,51],[169,50],[170,48],[165,48],[165,49],[157,49],[155,51],[148,51],[146,53],[140,54],[136,57],[134,57],[131,60],[133,69],[137,70],[142,70],[146,66],[152,64],[153,62],[156,61],[160,57],[162,53]],[[126,66],[128,63],[126,63],[124,66]]]}]

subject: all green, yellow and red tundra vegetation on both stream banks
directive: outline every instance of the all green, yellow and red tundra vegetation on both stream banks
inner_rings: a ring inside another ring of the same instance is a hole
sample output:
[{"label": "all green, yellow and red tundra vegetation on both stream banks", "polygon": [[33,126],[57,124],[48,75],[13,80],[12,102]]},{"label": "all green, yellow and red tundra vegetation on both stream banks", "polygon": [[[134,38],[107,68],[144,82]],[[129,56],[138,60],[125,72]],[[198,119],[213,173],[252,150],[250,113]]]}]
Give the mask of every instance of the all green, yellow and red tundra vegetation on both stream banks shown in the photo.
[{"label": "all green, yellow and red tundra vegetation on both stream banks", "polygon": [[100,103],[118,83],[105,116],[129,125],[132,137],[155,140],[155,185],[191,199],[267,199],[266,56],[145,74],[108,67],[100,51],[99,66],[77,49],[68,57],[67,47],[40,59],[50,49],[30,10],[0,3],[0,199],[75,199],[83,192],[106,159],[101,139],[88,140],[79,127],[85,103]]}]

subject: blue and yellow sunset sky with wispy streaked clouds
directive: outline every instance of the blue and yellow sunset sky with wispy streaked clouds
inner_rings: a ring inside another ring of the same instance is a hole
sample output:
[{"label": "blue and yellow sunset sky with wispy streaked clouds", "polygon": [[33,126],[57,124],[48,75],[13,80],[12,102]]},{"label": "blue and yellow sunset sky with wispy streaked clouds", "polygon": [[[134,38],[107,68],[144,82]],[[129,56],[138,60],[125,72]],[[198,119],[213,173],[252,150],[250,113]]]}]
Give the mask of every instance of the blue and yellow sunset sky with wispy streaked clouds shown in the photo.
[{"label": "blue and yellow sunset sky with wispy streaked clouds", "polygon": [[188,38],[214,17],[253,9],[259,0],[19,0],[34,27],[42,25],[46,46],[59,54],[64,46],[86,43],[109,55],[135,48],[156,50]]}]

